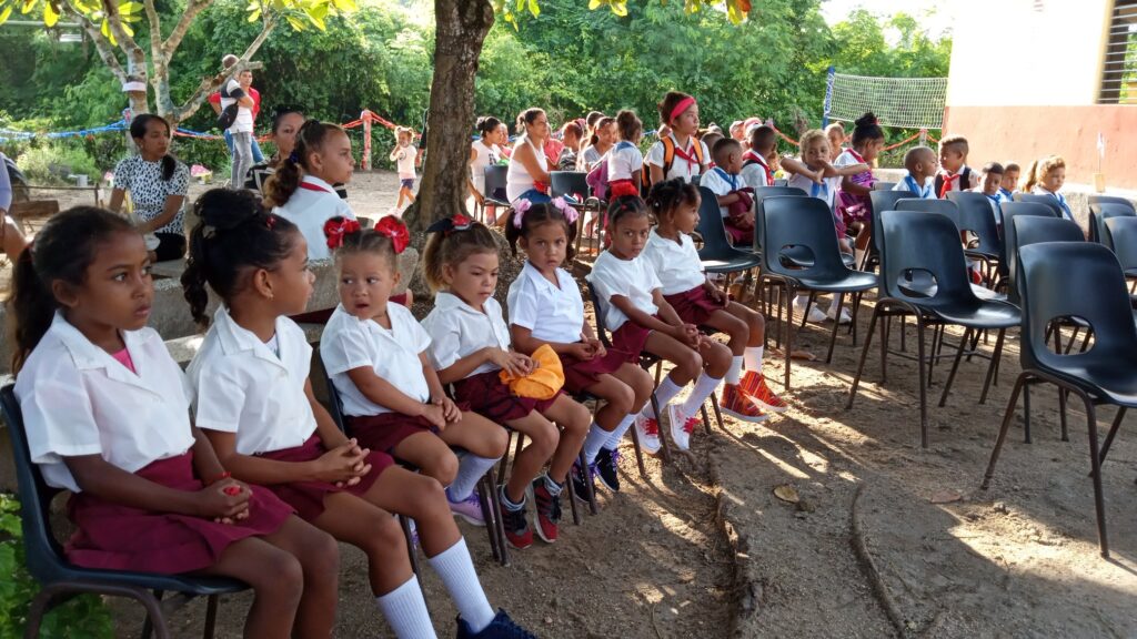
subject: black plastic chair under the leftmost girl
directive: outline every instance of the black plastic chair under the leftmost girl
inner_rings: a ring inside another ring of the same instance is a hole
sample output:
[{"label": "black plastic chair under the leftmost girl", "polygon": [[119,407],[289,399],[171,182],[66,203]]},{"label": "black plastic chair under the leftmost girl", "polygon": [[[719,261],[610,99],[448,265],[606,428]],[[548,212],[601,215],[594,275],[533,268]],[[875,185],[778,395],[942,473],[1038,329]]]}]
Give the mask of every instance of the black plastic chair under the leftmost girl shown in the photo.
[{"label": "black plastic chair under the leftmost girl", "polygon": [[[49,487],[43,481],[39,466],[32,463],[23,413],[11,384],[0,390],[0,409],[8,425],[16,464],[24,561],[27,571],[42,587],[27,613],[25,636],[40,636],[43,615],[55,607],[57,600],[61,603],[75,595],[94,594],[138,600],[147,612],[143,637],[150,636],[152,626],[159,639],[169,637],[165,617],[167,612],[173,612],[193,597],[208,597],[204,637],[213,637],[217,621],[217,596],[241,592],[248,586],[233,579],[93,570],[68,563],[51,534],[49,523],[51,499],[60,491]],[[182,599],[168,599],[164,606],[161,596],[165,592],[177,592]]]}]

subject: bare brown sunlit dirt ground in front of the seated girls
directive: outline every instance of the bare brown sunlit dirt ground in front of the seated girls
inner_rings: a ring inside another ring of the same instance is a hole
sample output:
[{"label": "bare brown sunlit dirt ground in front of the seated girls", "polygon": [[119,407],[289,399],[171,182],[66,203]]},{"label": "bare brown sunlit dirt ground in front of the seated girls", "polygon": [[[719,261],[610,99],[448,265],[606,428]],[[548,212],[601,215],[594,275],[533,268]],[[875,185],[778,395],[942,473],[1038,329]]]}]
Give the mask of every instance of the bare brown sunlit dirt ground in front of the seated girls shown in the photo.
[{"label": "bare brown sunlit dirt ground in front of the seated girls", "polygon": [[[350,202],[381,215],[395,186],[390,174],[359,175]],[[943,408],[949,360],[937,366],[930,447],[921,449],[916,368],[890,356],[880,384],[877,342],[856,404],[845,408],[870,313],[871,299],[857,348],[843,332],[832,364],[794,363],[785,415],[762,424],[725,417],[670,465],[649,458],[647,478],[625,443],[623,491],[601,490],[599,514],[584,513],[580,526],[565,505],[555,547],[538,541],[503,567],[484,531],[462,524],[491,603],[542,637],[1137,637],[1132,438],[1121,432],[1103,467],[1106,561],[1084,408],[1071,403],[1070,441],[1061,441],[1052,388],[1031,393],[1034,443],[1022,441],[1020,401],[991,488],[979,488],[1019,373],[1018,331],[985,405],[985,360],[961,364]],[[823,355],[829,327],[810,325],[797,343]],[[912,351],[911,323],[907,338]],[[767,355],[779,391],[782,371]],[[1114,412],[1098,413],[1104,437]],[[783,486],[796,504],[773,495]],[[453,636],[455,609],[429,566],[424,573],[435,628]],[[340,586],[337,636],[390,636],[355,549],[342,553]],[[248,601],[223,600],[218,637],[240,636]],[[138,608],[115,611],[121,633],[136,636]],[[174,634],[197,636],[202,617],[204,604],[191,604],[173,619]]]}]

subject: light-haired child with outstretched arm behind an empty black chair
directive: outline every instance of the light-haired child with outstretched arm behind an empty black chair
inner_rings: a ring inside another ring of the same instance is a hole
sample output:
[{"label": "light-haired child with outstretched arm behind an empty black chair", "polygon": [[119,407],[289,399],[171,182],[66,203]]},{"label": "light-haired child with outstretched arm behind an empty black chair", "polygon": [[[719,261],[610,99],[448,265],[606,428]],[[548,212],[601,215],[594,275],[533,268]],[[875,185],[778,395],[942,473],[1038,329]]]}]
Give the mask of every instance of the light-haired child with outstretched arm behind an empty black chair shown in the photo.
[{"label": "light-haired child with outstretched arm behind an empty black chair", "polygon": [[[837,197],[837,189],[840,188],[841,179],[847,175],[856,175],[865,171],[872,171],[866,164],[854,164],[841,168],[833,167],[829,161],[829,140],[821,130],[813,128],[802,135],[800,141],[802,158],[782,158],[782,168],[790,174],[789,185],[802,189],[811,197],[825,202],[829,210],[833,210],[833,200]],[[853,247],[845,235],[845,221],[833,213],[833,226],[837,230],[837,243],[841,252],[853,254]],[[803,293],[794,300],[794,307],[798,313],[807,313],[810,322],[824,322],[835,320],[841,324],[853,321],[847,308],[841,308],[841,315],[837,317],[837,296],[833,296],[829,310],[822,313],[820,308],[810,304],[810,296]]]}]

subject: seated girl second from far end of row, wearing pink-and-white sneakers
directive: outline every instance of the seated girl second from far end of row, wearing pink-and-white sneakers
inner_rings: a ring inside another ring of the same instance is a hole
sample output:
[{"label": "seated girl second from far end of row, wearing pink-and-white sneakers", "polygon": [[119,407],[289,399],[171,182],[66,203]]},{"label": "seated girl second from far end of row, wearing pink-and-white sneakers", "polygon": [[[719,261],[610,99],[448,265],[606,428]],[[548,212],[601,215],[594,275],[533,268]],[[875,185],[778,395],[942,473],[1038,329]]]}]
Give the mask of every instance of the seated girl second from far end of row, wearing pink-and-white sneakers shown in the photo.
[{"label": "seated girl second from far end of row, wearing pink-and-white sneakers", "polygon": [[[674,364],[655,393],[659,406],[666,406],[671,438],[687,450],[699,422],[699,408],[730,368],[730,350],[706,339],[695,324],[681,320],[664,299],[655,268],[640,256],[650,226],[644,200],[632,196],[612,200],[608,206],[612,246],[596,259],[588,281],[603,302],[613,348],[634,354],[646,350]],[[695,388],[687,401],[669,404],[691,381]],[[650,403],[637,415],[636,430],[640,446],[653,453],[659,449],[658,416]]]}]

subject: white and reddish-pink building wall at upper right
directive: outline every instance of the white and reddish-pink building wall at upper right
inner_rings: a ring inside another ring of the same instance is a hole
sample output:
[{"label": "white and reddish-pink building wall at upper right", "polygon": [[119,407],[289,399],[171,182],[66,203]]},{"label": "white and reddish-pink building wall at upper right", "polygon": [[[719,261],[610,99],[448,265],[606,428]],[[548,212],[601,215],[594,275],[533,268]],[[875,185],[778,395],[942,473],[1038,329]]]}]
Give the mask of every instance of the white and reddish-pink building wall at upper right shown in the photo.
[{"label": "white and reddish-pink building wall at upper right", "polygon": [[1112,0],[958,0],[944,133],[969,164],[1057,153],[1067,180],[1094,184],[1097,135],[1106,190],[1137,189],[1137,106],[1096,105]]}]

